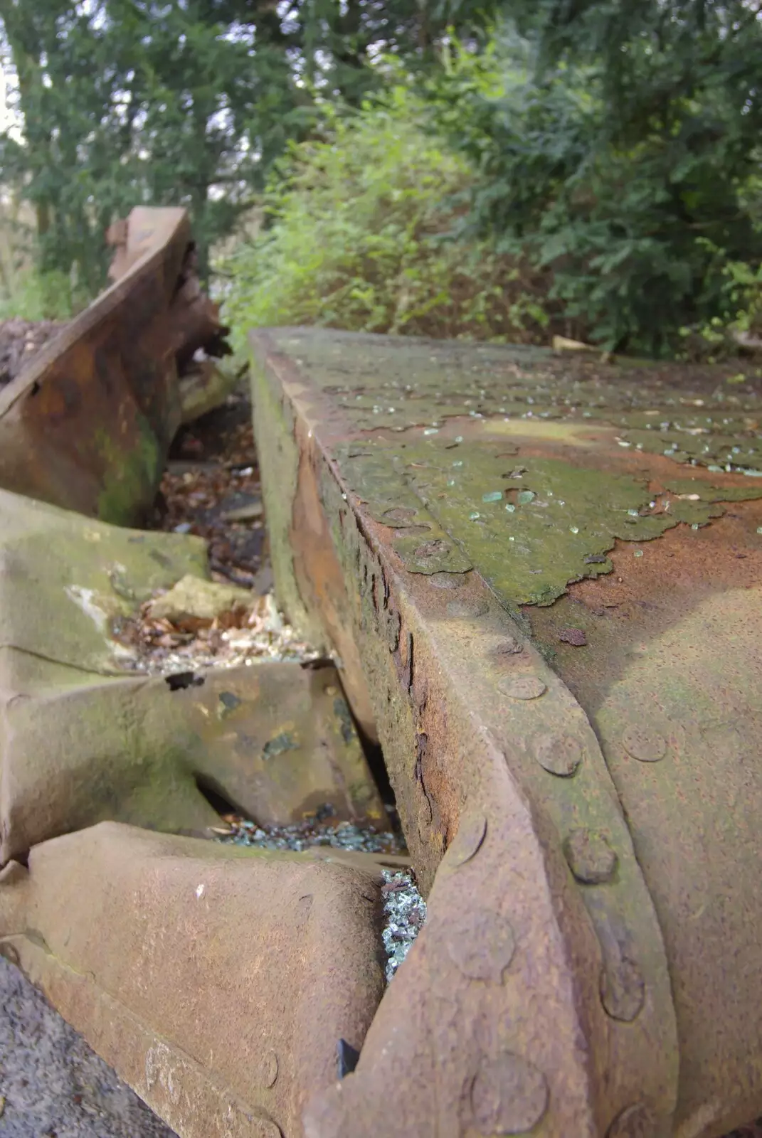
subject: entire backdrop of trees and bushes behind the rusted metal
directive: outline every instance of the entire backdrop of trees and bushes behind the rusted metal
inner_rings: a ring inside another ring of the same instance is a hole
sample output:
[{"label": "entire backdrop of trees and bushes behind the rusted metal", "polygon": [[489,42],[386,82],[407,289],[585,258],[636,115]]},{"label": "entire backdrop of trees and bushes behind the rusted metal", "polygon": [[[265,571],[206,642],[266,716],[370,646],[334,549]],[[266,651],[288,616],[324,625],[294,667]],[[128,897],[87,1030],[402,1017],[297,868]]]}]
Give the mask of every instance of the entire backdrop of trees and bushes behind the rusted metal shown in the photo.
[{"label": "entire backdrop of trees and bushes behind the rusted metal", "polygon": [[749,0],[0,0],[0,52],[3,181],[80,295],[133,205],[186,205],[203,271],[267,188],[241,327],[656,355],[760,330]]}]

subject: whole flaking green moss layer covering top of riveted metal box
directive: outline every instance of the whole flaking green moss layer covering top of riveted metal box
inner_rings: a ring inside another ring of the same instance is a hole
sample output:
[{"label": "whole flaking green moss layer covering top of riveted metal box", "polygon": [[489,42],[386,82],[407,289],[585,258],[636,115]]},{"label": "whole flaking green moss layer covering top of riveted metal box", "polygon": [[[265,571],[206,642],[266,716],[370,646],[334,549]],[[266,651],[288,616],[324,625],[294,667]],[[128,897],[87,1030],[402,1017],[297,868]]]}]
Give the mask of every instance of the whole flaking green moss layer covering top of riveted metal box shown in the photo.
[{"label": "whole flaking green moss layer covering top of riveted metal box", "polygon": [[[720,503],[762,497],[749,465],[762,445],[754,418],[762,399],[726,394],[718,376],[702,398],[695,391],[705,381],[681,395],[658,372],[585,370],[539,349],[290,329],[276,343],[359,429],[331,453],[349,488],[393,531],[405,568],[476,568],[509,605],[550,604],[571,582],[609,572],[605,554],[617,539],[705,526],[724,512]],[[640,477],[596,461],[611,450],[591,442],[596,428],[616,448],[642,454]],[[675,430],[686,435],[680,451]],[[679,476],[654,483],[650,453],[748,477],[727,487]]]}]

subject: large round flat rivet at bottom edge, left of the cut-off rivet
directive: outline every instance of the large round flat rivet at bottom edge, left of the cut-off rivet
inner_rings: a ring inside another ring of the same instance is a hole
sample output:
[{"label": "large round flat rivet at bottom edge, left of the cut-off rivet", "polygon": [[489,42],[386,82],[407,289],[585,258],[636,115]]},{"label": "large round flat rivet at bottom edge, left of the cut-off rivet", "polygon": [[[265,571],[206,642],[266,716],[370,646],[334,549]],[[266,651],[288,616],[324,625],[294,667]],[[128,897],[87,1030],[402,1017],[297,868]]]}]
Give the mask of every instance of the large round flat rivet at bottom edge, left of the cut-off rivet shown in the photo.
[{"label": "large round flat rivet at bottom edge, left of the cut-off rivet", "polygon": [[483,1135],[523,1135],[548,1107],[548,1082],[521,1055],[503,1052],[482,1064],[470,1090],[474,1121]]}]

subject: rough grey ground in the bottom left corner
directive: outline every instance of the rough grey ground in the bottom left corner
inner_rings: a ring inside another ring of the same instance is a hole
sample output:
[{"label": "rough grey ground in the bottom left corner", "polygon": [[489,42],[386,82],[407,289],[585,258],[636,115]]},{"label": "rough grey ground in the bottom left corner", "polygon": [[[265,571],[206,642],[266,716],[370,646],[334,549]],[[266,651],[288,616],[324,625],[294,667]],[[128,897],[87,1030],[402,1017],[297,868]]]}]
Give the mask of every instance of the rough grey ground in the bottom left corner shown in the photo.
[{"label": "rough grey ground in the bottom left corner", "polygon": [[0,1138],[174,1138],[0,958]]}]

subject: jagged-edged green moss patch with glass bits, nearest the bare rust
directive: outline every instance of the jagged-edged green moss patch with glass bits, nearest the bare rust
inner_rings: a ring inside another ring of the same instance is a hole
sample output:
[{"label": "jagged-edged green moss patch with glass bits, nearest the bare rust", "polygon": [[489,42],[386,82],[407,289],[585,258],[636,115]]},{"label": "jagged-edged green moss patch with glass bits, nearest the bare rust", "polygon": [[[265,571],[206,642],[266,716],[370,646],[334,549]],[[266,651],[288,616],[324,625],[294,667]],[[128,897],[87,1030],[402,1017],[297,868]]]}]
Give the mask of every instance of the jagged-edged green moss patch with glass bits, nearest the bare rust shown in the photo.
[{"label": "jagged-edged green moss patch with glass bits, nearest the bare rust", "polygon": [[625,475],[558,459],[518,463],[495,442],[453,445],[420,431],[344,446],[337,457],[371,516],[393,528],[408,570],[474,566],[511,605],[552,604],[572,582],[611,572],[606,553],[617,539],[704,526],[723,512],[716,503],[726,493],[732,501],[761,495],[689,479],[654,497]]}]

